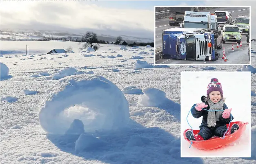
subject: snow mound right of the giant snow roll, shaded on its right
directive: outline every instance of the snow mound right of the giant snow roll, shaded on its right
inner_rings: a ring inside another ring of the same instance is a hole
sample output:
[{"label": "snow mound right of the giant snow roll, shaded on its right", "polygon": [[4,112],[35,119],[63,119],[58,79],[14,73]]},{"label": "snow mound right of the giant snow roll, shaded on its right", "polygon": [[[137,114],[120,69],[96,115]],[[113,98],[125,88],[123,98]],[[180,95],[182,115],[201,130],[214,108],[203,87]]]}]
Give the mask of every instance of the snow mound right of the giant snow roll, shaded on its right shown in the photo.
[{"label": "snow mound right of the giant snow roll, shaded on its right", "polygon": [[169,100],[165,92],[152,87],[145,87],[142,89],[144,94],[138,98],[138,107],[163,107],[169,106],[178,109],[179,104]]}]

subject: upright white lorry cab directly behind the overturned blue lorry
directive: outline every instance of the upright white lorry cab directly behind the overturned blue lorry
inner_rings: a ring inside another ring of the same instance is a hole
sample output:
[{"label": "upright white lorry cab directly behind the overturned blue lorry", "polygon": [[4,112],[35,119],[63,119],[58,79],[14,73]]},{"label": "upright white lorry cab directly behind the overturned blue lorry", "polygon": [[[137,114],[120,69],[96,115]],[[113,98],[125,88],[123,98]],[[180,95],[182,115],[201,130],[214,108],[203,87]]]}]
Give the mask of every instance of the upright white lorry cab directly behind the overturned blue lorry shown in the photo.
[{"label": "upright white lorry cab directly behind the overturned blue lorry", "polygon": [[185,11],[183,27],[185,28],[210,28],[210,12]]}]

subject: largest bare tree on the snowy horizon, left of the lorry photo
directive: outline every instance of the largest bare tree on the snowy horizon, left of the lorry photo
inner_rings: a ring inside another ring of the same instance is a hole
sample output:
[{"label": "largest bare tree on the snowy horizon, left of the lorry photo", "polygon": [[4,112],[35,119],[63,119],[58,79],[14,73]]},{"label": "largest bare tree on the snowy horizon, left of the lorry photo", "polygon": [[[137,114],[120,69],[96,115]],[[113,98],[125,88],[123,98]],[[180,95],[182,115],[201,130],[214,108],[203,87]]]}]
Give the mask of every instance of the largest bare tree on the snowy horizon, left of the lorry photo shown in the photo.
[{"label": "largest bare tree on the snowy horizon, left of the lorry photo", "polygon": [[82,42],[85,43],[83,45],[83,48],[87,47],[98,47],[98,39],[97,39],[97,34],[93,32],[87,32],[84,36],[82,36]]}]

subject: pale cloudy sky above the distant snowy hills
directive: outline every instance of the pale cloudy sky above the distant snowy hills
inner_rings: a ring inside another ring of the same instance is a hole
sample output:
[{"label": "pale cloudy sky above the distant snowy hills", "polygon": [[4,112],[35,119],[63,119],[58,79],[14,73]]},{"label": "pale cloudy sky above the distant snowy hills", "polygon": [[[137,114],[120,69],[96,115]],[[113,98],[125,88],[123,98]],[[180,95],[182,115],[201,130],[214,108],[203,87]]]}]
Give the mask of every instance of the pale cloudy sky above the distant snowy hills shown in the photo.
[{"label": "pale cloudy sky above the distant snowy hills", "polygon": [[[218,1],[221,5],[251,5],[252,15],[256,14],[254,3]],[[155,5],[209,6],[212,1],[0,1],[0,28],[82,33],[91,30],[153,39]]]}]

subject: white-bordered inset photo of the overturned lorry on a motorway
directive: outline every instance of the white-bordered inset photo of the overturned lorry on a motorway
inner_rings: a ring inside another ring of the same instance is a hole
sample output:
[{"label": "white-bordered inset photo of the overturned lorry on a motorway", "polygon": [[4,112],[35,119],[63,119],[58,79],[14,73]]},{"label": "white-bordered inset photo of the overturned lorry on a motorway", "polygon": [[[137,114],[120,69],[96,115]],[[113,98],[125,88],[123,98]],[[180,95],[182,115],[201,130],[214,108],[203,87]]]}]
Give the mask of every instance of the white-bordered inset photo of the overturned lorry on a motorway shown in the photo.
[{"label": "white-bordered inset photo of the overturned lorry on a motorway", "polygon": [[154,6],[154,20],[155,65],[251,65],[251,6]]}]

